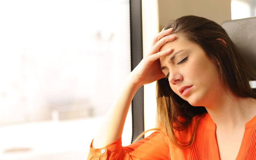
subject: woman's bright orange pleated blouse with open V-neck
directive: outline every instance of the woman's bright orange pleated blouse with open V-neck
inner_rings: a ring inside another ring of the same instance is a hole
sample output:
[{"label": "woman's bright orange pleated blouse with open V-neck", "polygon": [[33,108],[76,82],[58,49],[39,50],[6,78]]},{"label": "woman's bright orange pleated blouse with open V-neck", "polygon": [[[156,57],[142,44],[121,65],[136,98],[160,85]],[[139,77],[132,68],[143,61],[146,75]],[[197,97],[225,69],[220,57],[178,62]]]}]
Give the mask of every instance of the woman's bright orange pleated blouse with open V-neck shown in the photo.
[{"label": "woman's bright orange pleated blouse with open V-neck", "polygon": [[[193,117],[186,130],[175,132],[181,141],[190,140],[197,119],[199,119],[199,116]],[[167,138],[163,133],[156,131],[128,146],[122,146],[121,138],[119,138],[103,148],[93,148],[92,140],[87,160],[168,159]],[[216,140],[216,124],[208,113],[205,113],[199,121],[195,141],[189,149],[182,150],[171,143],[170,159],[220,159]],[[236,159],[256,160],[256,115],[245,124],[243,139]]]}]

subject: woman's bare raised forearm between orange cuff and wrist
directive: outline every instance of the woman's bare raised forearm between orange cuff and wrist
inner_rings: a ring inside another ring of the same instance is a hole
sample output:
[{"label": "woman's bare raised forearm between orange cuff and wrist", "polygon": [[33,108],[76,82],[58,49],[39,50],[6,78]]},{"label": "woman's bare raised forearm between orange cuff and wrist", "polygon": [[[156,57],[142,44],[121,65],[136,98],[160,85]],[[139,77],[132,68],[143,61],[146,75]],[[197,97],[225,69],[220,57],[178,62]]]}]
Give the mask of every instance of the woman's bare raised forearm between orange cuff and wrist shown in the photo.
[{"label": "woman's bare raised forearm between orange cuff and wrist", "polygon": [[119,90],[119,94],[114,100],[112,106],[98,129],[94,137],[93,148],[102,148],[121,138],[125,119],[131,105],[131,101],[139,89],[132,83],[131,74],[129,74]]}]

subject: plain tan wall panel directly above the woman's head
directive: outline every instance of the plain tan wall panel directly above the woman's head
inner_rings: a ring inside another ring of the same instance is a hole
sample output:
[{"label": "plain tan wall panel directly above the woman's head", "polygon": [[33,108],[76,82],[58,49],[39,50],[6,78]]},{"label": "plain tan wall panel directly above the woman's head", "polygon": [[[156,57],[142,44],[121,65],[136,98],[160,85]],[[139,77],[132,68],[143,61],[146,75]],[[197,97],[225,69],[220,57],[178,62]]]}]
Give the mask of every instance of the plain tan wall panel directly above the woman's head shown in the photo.
[{"label": "plain tan wall panel directly above the woman's head", "polygon": [[231,0],[158,0],[161,30],[170,20],[185,15],[205,17],[221,25],[231,20]]}]

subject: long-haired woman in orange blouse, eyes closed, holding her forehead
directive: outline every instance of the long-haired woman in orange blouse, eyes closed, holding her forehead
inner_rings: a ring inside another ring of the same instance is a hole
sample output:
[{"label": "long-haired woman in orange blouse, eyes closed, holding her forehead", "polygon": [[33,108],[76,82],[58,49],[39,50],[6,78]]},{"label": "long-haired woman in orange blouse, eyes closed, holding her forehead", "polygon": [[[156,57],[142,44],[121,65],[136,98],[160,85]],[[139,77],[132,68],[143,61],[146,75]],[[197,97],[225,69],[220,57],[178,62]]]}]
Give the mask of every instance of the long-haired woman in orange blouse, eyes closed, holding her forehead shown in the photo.
[{"label": "long-haired woman in orange blouse, eyes closed, holding her forehead", "polygon": [[[256,159],[256,95],[249,85],[255,79],[216,22],[199,16],[171,20],[125,79],[88,159]],[[134,94],[156,80],[160,127],[121,146]]]}]

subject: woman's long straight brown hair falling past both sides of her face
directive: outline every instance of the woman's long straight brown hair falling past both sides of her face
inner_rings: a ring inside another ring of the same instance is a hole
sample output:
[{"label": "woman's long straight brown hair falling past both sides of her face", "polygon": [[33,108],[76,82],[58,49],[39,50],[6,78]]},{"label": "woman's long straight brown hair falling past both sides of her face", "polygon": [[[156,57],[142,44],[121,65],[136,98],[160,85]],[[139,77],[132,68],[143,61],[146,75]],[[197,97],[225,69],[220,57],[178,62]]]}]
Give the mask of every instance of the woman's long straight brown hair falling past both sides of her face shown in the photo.
[{"label": "woman's long straight brown hair falling past both sides of her face", "polygon": [[[249,84],[249,80],[256,79],[256,72],[245,62],[240,50],[229,38],[224,28],[212,20],[193,15],[171,20],[164,29],[168,28],[174,28],[172,33],[181,33],[187,40],[197,43],[203,48],[207,57],[218,68],[220,80],[230,88],[234,95],[240,98],[251,97],[256,99],[256,94]],[[221,38],[226,44],[217,40],[217,38]],[[193,136],[187,143],[178,143],[181,141],[174,134],[174,129],[180,131],[187,128],[193,117],[201,117],[201,115],[207,113],[205,107],[193,107],[183,100],[174,93],[165,78],[156,82],[156,101],[162,128],[152,128],[150,130],[166,132],[177,147],[181,149],[190,148],[195,140],[195,132],[200,119],[197,120]],[[180,117],[183,118],[182,121],[179,120]],[[177,124],[177,127],[174,124]],[[134,142],[150,130],[141,133]]]}]

